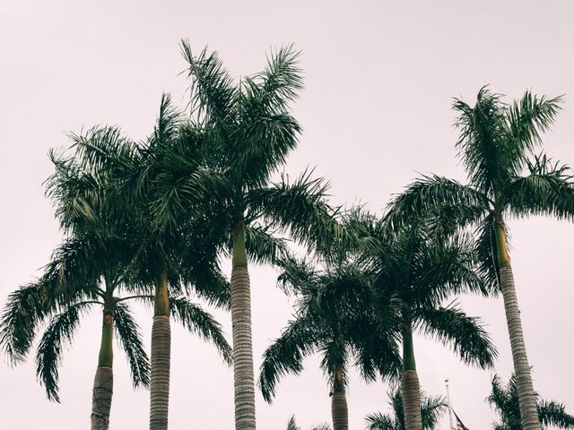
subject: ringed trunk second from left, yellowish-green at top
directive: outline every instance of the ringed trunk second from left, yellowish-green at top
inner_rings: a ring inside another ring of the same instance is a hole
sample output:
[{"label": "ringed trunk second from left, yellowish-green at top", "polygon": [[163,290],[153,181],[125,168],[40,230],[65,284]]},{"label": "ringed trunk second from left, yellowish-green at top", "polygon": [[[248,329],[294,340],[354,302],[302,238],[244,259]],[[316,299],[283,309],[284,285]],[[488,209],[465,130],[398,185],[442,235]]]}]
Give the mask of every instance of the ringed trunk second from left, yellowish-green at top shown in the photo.
[{"label": "ringed trunk second from left, yellowish-green at top", "polygon": [[164,272],[155,285],[152,325],[152,362],[150,382],[150,430],[168,428],[170,405],[170,299],[168,278]]}]

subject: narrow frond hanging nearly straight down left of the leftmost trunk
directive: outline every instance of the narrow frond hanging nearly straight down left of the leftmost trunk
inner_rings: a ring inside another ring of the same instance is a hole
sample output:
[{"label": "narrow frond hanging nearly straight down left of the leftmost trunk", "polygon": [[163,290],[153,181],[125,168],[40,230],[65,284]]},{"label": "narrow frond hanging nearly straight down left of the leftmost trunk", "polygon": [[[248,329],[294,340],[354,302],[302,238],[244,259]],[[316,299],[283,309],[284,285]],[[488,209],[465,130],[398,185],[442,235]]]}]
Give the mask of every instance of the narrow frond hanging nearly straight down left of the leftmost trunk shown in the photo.
[{"label": "narrow frond hanging nearly straight down left of the leftmost trunk", "polygon": [[46,388],[48,400],[60,401],[57,382],[62,349],[71,343],[80,323],[80,317],[90,305],[90,303],[69,305],[63,313],[51,318],[39,341],[36,374],[39,383]]}]

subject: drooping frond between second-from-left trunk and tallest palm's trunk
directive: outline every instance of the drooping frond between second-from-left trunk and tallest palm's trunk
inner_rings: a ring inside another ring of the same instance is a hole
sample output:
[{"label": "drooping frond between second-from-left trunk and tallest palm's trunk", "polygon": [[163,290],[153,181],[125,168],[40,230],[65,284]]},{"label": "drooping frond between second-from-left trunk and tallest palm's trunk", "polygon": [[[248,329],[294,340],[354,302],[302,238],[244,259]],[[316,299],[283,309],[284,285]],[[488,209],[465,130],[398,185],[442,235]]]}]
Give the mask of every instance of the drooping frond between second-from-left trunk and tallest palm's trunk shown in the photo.
[{"label": "drooping frond between second-from-left trunk and tallest palm's trunk", "polygon": [[199,305],[191,303],[186,297],[170,298],[170,312],[174,321],[182,323],[187,330],[198,334],[202,339],[213,343],[227,364],[231,364],[233,353],[230,344],[225,340],[222,326],[211,314],[206,313]]}]

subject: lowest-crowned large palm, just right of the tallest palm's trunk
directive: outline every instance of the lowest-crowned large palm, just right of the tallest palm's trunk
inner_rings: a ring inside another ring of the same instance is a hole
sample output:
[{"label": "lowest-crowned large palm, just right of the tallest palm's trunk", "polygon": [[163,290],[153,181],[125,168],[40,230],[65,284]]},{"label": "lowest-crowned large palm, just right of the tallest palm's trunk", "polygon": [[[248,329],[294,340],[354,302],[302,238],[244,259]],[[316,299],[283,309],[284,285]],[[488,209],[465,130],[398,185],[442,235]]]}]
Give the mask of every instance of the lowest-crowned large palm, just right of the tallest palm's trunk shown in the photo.
[{"label": "lowest-crowned large palm, just right of the tallest palm's trunk", "polygon": [[[265,350],[259,375],[263,397],[270,402],[279,378],[300,374],[303,359],[320,352],[320,366],[331,386],[333,428],[347,430],[345,388],[352,357],[367,381],[378,374],[396,378],[400,368],[393,334],[377,330],[370,308],[364,305],[369,299],[369,279],[351,262],[321,272],[307,262],[291,260],[283,262],[280,280],[299,299],[296,318]],[[376,339],[370,337],[373,332],[378,333]]]}]

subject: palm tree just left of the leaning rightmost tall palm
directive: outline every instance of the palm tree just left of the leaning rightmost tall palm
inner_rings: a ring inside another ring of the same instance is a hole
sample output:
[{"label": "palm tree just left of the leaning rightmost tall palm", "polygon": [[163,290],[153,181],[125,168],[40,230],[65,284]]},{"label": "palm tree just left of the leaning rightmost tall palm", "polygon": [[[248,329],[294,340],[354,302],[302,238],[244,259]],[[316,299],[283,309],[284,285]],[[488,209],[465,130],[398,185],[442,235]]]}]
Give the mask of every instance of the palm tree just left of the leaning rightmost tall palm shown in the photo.
[{"label": "palm tree just left of the leaning rightmost tall palm", "polygon": [[[361,235],[378,247],[368,255],[373,272],[374,295],[370,303],[379,315],[379,326],[394,324],[403,347],[401,392],[407,430],[421,430],[420,384],[414,359],[413,330],[422,331],[450,345],[467,364],[492,366],[496,349],[479,319],[467,316],[456,302],[443,305],[454,295],[485,292],[475,271],[474,253],[463,235],[436,226],[430,219],[411,219],[395,232],[386,220],[368,215],[352,222]],[[444,234],[443,234],[444,233]]]}]

